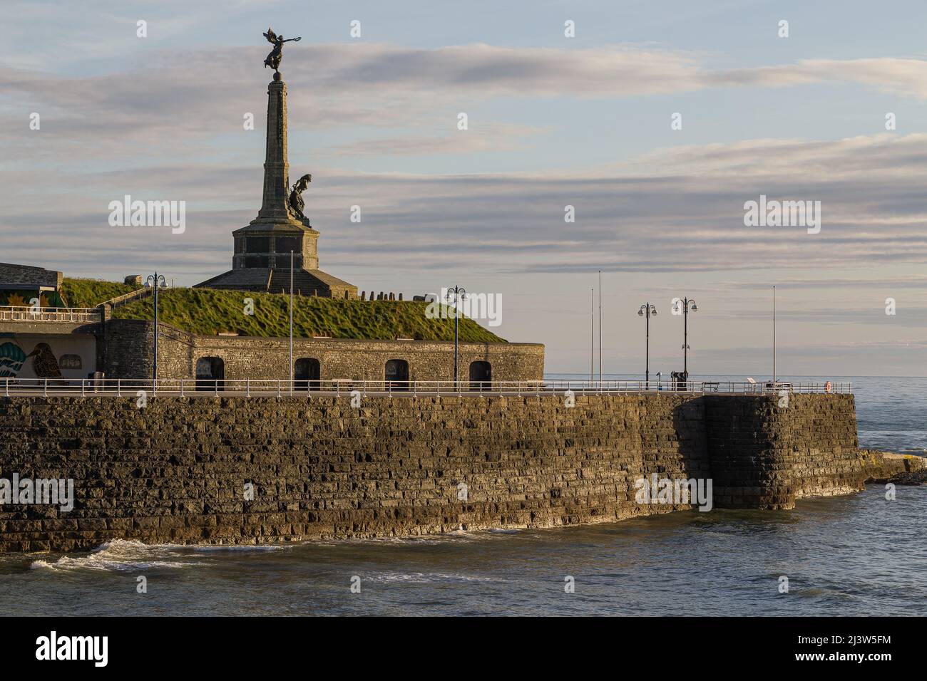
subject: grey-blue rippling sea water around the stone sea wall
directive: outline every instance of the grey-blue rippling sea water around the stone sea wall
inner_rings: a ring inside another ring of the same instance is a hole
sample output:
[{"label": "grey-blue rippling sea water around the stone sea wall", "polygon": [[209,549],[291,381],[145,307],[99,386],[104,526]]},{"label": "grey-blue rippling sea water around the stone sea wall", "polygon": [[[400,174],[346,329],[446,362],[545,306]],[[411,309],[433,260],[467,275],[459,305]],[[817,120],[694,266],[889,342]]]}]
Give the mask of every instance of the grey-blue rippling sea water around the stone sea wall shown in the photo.
[{"label": "grey-blue rippling sea water around the stone sea wall", "polygon": [[[927,379],[831,378],[854,382],[862,447],[924,453]],[[0,555],[0,599],[11,615],[922,615],[925,518],[927,486],[899,486],[893,501],[869,486],[792,511],[544,530],[244,548],[114,541]]]}]

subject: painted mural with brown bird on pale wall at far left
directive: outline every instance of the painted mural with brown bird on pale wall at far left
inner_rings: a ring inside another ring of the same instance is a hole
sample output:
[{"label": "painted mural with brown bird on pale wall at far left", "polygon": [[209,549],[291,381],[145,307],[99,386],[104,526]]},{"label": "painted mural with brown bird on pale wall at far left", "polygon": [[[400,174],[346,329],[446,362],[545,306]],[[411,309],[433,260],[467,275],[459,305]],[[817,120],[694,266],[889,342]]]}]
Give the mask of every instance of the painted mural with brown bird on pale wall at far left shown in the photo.
[{"label": "painted mural with brown bird on pale wall at far left", "polygon": [[0,334],[0,378],[87,378],[95,367],[91,334]]}]

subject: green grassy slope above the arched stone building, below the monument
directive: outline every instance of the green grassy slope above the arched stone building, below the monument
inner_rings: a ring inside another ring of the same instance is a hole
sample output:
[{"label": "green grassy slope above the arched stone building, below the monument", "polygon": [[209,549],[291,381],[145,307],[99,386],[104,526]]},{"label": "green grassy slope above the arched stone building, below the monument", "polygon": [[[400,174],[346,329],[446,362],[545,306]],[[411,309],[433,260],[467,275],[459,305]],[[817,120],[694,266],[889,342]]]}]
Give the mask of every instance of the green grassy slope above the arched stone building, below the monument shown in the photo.
[{"label": "green grassy slope above the arched stone building, below the monument", "polygon": [[[74,280],[70,280],[74,281]],[[79,280],[86,282],[88,280]],[[92,282],[122,287],[123,284]],[[89,288],[89,286],[88,286]],[[131,286],[125,286],[131,290]],[[100,294],[94,303],[112,296]],[[244,299],[254,299],[254,314],[244,314]],[[70,296],[68,298],[70,301]],[[73,303],[71,303],[73,305]],[[294,334],[302,337],[329,335],[332,338],[391,340],[396,337],[417,340],[453,340],[454,321],[427,319],[427,303],[389,300],[338,300],[296,296],[293,311]],[[246,291],[174,288],[159,293],[159,321],[194,334],[212,335],[220,331],[237,331],[242,335],[289,335],[289,296]],[[113,310],[116,319],[153,319],[154,301],[150,297],[136,300]],[[476,322],[462,318],[462,341],[505,342]]]}]

